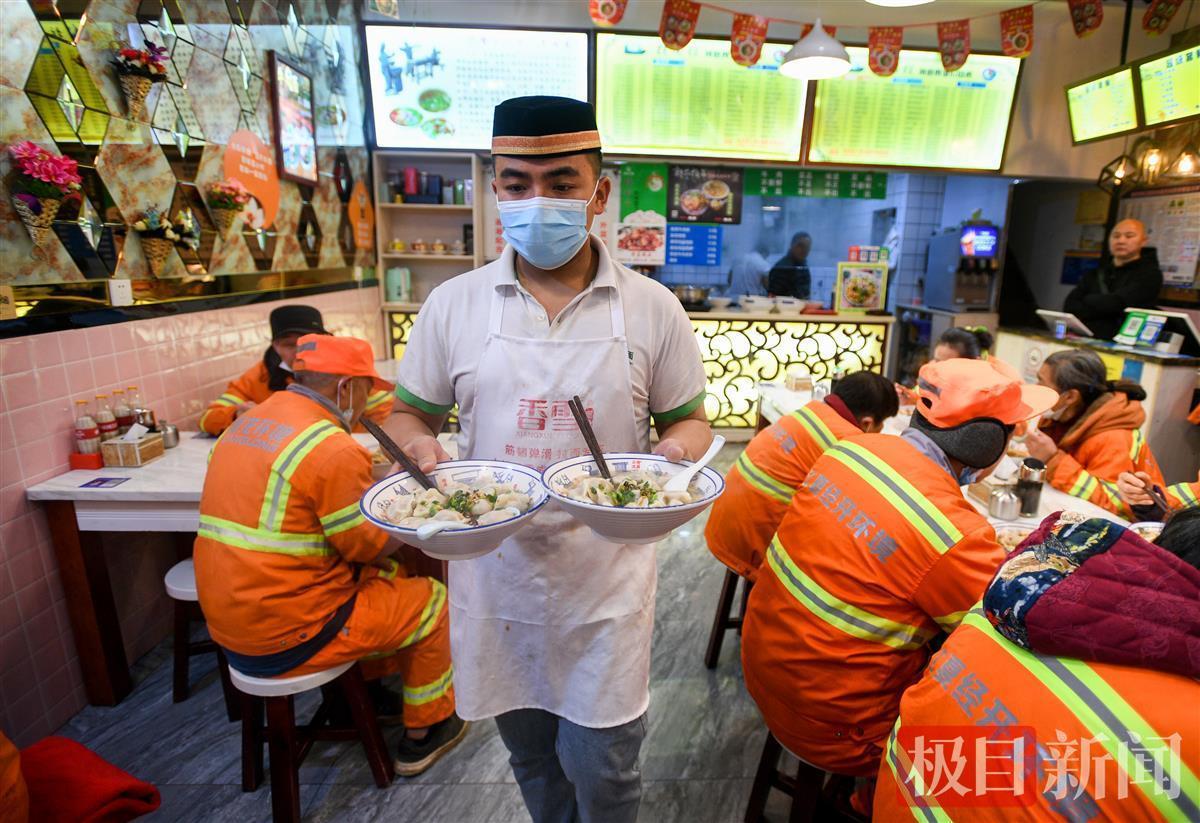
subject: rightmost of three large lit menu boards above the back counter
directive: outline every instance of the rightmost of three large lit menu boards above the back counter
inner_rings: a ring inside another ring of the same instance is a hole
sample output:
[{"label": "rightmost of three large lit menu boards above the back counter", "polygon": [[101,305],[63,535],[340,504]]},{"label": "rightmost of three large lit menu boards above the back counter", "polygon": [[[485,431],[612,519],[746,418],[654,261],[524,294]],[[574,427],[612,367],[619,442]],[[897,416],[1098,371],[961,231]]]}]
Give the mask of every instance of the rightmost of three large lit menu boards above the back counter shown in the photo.
[{"label": "rightmost of three large lit menu boards above the back counter", "polygon": [[809,163],[1000,169],[1019,58],[972,54],[947,72],[937,52],[904,49],[880,77],[865,48],[846,50],[850,72],[817,80]]}]

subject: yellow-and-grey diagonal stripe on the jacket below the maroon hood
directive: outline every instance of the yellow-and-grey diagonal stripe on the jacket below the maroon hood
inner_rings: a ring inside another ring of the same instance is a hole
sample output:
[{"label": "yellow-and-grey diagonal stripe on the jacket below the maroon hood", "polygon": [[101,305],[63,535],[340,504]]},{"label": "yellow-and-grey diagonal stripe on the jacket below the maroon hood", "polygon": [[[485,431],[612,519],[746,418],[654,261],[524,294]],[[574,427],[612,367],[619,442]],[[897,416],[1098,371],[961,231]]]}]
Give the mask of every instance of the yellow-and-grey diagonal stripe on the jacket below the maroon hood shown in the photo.
[{"label": "yellow-and-grey diagonal stripe on the jacket below the maroon hood", "polygon": [[[1182,755],[1172,761],[1170,750],[1154,728],[1096,669],[1081,660],[1040,655],[1009,643],[978,611],[970,612],[962,623],[978,629],[1049,689],[1087,727],[1090,737],[1104,746],[1164,818],[1200,819],[1200,806],[1196,805],[1200,803],[1200,781],[1183,762]],[[1178,786],[1172,781],[1171,767],[1176,767],[1180,775]],[[1151,786],[1144,787],[1147,782]],[[1172,800],[1170,795],[1176,792],[1177,797]]]}]

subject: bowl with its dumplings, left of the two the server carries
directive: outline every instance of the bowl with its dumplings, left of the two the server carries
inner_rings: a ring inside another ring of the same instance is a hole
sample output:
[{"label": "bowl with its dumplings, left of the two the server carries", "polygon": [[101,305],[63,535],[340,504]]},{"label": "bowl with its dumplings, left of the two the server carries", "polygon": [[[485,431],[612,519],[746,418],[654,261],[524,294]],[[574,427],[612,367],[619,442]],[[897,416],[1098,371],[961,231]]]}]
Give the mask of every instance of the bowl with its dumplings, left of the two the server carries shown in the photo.
[{"label": "bowl with its dumplings, left of the two the server carries", "polygon": [[[359,501],[364,517],[439,560],[469,560],[524,528],[547,500],[534,469],[500,461],[449,461],[422,488],[407,471],[380,480]],[[431,524],[446,523],[433,535]],[[425,527],[425,528],[422,528]]]}]

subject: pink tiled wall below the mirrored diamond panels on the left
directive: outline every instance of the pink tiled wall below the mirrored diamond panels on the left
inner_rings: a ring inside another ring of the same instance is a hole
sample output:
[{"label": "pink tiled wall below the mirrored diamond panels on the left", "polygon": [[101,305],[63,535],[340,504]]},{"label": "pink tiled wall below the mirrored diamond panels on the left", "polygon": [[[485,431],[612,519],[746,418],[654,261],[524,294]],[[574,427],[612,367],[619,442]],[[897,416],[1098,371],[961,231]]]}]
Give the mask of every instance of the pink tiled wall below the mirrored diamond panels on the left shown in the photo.
[{"label": "pink tiled wall below the mirrored diamond panels on the left", "polygon": [[[361,330],[384,353],[377,290],[287,302],[316,306],[331,329]],[[194,428],[226,383],[262,356],[271,308],[244,306],[0,341],[0,726],[18,744],[53,732],[85,699],[46,518],[24,494],[28,486],[67,470],[73,401],[136,384],[160,416]],[[109,573],[133,659],[169,632],[162,576],[174,563],[174,548],[170,539],[152,534],[106,542],[114,541],[122,551],[108,553]]]}]

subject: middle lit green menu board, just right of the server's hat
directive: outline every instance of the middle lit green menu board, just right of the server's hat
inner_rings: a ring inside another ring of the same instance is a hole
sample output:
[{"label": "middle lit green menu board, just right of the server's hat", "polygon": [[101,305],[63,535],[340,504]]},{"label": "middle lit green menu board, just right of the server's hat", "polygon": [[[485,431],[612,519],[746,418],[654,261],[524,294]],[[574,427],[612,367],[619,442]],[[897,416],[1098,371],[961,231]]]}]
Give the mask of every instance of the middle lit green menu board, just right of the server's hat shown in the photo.
[{"label": "middle lit green menu board, just right of the server's hat", "polygon": [[604,150],[626,155],[796,161],[806,83],[779,73],[787,46],[756,66],[730,41],[674,52],[656,36],[596,34],[596,120]]}]

